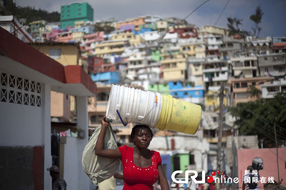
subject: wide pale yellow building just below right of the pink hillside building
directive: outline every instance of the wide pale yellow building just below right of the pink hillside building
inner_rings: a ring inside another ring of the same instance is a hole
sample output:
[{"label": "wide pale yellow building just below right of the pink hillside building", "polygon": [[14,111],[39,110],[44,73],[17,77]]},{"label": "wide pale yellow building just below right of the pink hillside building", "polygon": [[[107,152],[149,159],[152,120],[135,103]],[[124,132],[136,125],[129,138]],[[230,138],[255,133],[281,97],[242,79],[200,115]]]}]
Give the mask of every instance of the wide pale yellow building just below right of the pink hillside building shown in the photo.
[{"label": "wide pale yellow building just below right of the pink hillside building", "polygon": [[126,40],[119,41],[105,41],[95,45],[95,54],[98,57],[103,57],[104,54],[114,53],[120,55],[124,51],[124,44]]}]

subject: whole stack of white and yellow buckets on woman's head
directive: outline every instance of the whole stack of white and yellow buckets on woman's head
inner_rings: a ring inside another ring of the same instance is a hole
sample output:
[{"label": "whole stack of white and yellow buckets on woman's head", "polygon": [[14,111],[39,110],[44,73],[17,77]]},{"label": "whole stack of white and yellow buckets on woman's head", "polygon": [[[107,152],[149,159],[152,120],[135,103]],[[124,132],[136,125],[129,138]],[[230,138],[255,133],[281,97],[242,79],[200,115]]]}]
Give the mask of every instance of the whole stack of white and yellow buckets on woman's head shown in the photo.
[{"label": "whole stack of white and yellow buckets on woman's head", "polygon": [[112,85],[107,105],[107,118],[195,134],[201,121],[202,108],[154,91]]}]

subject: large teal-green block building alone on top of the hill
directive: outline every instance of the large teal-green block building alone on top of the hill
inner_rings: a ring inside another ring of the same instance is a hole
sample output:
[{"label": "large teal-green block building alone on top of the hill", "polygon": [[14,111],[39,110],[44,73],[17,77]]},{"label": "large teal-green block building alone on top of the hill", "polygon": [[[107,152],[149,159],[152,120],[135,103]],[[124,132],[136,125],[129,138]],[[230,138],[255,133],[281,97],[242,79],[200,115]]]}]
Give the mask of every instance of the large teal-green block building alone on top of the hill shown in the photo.
[{"label": "large teal-green block building alone on top of the hill", "polygon": [[93,21],[93,9],[88,3],[72,3],[61,6],[61,28],[73,28],[76,21]]}]

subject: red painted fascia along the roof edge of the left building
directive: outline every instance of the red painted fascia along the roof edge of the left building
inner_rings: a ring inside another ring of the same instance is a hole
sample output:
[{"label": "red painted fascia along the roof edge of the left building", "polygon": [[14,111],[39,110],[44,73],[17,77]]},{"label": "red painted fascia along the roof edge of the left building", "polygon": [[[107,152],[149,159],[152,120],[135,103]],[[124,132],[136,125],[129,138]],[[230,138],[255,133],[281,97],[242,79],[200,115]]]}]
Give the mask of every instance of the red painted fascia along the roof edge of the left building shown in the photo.
[{"label": "red painted fascia along the roof edge of the left building", "polygon": [[[0,39],[10,33],[0,27]],[[0,41],[0,50],[5,56],[38,71],[61,83],[82,83],[90,92],[96,94],[96,85],[79,65],[63,66],[59,62],[41,53],[34,47],[21,41],[14,35],[9,35]]]}]

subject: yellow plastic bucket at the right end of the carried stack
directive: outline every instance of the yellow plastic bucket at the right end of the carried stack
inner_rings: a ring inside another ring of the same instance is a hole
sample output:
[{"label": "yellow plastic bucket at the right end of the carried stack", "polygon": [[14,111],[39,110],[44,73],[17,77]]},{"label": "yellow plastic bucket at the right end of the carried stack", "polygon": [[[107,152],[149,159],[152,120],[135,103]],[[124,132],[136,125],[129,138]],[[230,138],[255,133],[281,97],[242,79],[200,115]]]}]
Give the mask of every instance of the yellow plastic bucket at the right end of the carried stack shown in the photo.
[{"label": "yellow plastic bucket at the right end of the carried stack", "polygon": [[201,121],[201,106],[178,100],[171,95],[162,95],[162,99],[161,112],[154,128],[195,134]]}]

